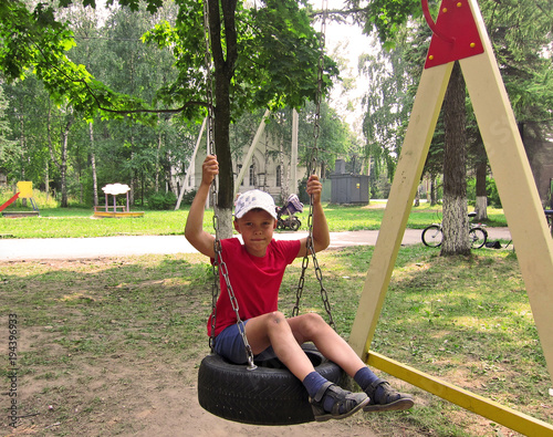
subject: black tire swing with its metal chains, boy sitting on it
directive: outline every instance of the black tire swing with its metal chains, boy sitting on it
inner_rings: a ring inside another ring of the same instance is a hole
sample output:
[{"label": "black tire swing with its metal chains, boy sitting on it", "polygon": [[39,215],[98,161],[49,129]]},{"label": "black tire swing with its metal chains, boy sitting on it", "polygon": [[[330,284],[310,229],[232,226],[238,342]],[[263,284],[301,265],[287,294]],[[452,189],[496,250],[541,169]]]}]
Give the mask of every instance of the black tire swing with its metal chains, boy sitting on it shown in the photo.
[{"label": "black tire swing with its metal chains, boy sitting on it", "polygon": [[[326,9],[325,9],[326,10]],[[319,137],[319,118],[320,118],[320,95],[322,87],[323,75],[323,46],[324,46],[324,27],[325,15],[323,14],[323,28],[321,32],[321,54],[319,60],[319,86],[316,95],[316,114],[314,127],[314,154],[311,163],[311,168],[307,174],[314,173],[316,164],[316,139]],[[207,1],[204,2],[204,25],[206,32],[206,70],[208,81],[208,149],[209,153],[215,150],[212,139],[212,119],[213,106],[211,95],[211,61],[209,54],[209,17]],[[312,171],[313,170],[313,171]],[[251,347],[243,331],[243,323],[240,320],[238,302],[234,292],[230,284],[226,267],[221,270],[227,282],[232,309],[237,314],[237,324],[242,336],[246,352],[248,355],[248,364],[233,364],[213,352],[215,345],[215,309],[217,298],[219,295],[219,267],[225,264],[221,258],[221,246],[219,240],[218,220],[217,220],[217,190],[216,183],[211,185],[211,199],[215,211],[215,231],[216,231],[216,262],[213,263],[213,284],[212,284],[212,310],[213,318],[211,323],[210,347],[211,354],[206,356],[200,364],[198,371],[198,400],[202,408],[209,413],[228,420],[240,422],[252,425],[293,425],[306,422],[313,422],[313,410],[309,403],[307,392],[303,384],[298,379],[278,358],[268,361],[254,361]],[[331,308],[326,290],[322,281],[322,272],[319,268],[315,250],[312,241],[312,202],[310,202],[310,212],[307,219],[307,254],[303,258],[302,273],[298,284],[296,302],[292,315],[298,315],[300,299],[303,291],[305,271],[309,266],[309,254],[313,259],[316,278],[321,284],[321,296],[328,315],[330,325],[334,327],[332,320]],[[302,350],[305,352],[310,361],[313,363],[315,371],[332,383],[340,383],[343,376],[343,371],[336,364],[326,360],[314,345],[304,344]]]}]

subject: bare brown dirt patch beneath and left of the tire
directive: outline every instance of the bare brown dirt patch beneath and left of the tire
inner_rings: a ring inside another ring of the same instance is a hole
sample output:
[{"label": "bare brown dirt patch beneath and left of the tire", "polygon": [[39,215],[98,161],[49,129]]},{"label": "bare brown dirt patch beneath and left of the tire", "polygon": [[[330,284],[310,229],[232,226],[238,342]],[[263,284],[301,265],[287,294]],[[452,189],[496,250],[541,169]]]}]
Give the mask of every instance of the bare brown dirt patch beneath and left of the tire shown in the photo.
[{"label": "bare brown dirt patch beneath and left of the tire", "polygon": [[[109,371],[97,378],[93,374],[103,367],[102,364]],[[96,363],[94,367],[88,368],[94,382],[87,387],[79,382],[66,382],[71,389],[63,397],[72,405],[73,410],[67,412],[65,423],[49,420],[55,409],[65,408],[60,399],[60,404],[42,405],[42,414],[39,416],[21,419],[13,431],[2,427],[1,434],[144,437],[375,435],[364,420],[358,422],[355,417],[342,422],[276,427],[260,427],[221,419],[204,410],[198,404],[195,366],[196,363],[184,363],[182,368],[176,368],[155,358],[144,362],[132,357],[109,357],[105,363]],[[81,388],[77,388],[80,385]],[[40,384],[31,391],[40,391]],[[24,397],[24,392],[22,396]],[[94,406],[93,415],[86,413],[87,404]]]}]

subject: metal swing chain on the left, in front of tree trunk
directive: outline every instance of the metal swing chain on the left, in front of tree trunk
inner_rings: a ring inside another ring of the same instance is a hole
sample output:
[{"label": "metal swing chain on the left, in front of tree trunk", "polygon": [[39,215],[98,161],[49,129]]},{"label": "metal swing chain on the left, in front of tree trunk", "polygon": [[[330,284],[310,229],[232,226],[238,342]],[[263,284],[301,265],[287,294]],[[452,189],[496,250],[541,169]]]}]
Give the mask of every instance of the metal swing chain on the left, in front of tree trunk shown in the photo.
[{"label": "metal swing chain on the left, in front of tree trunk", "polygon": [[[212,82],[211,82],[211,54],[209,52],[209,8],[208,8],[208,0],[204,1],[204,31],[206,33],[205,40],[206,40],[206,80],[207,80],[207,104],[208,104],[208,117],[207,117],[207,136],[208,136],[208,154],[212,155],[215,154],[215,138],[213,138],[213,95],[212,95]],[[213,229],[215,229],[215,242],[213,242],[213,250],[215,250],[215,262],[212,263],[212,270],[213,270],[213,284],[211,285],[211,306],[212,306],[212,312],[211,312],[211,333],[209,337],[209,346],[211,348],[211,352],[213,352],[215,348],[215,329],[216,329],[216,321],[217,321],[217,299],[219,296],[220,292],[220,285],[219,285],[219,272],[225,279],[225,283],[227,284],[227,291],[229,294],[230,299],[230,304],[232,305],[232,310],[234,311],[237,315],[237,326],[238,331],[240,332],[240,336],[242,337],[244,348],[246,348],[246,354],[248,357],[248,370],[253,371],[257,368],[257,365],[253,363],[253,352],[251,350],[251,346],[248,342],[248,339],[246,336],[246,331],[244,331],[244,323],[240,319],[240,309],[238,305],[238,300],[234,294],[234,290],[232,289],[232,285],[230,283],[230,278],[229,278],[229,271],[227,268],[227,263],[222,259],[222,246],[221,246],[221,239],[220,239],[220,232],[219,232],[219,208],[217,204],[217,178],[213,179],[211,187],[210,187],[210,197],[211,197],[211,205],[213,206]]]}]

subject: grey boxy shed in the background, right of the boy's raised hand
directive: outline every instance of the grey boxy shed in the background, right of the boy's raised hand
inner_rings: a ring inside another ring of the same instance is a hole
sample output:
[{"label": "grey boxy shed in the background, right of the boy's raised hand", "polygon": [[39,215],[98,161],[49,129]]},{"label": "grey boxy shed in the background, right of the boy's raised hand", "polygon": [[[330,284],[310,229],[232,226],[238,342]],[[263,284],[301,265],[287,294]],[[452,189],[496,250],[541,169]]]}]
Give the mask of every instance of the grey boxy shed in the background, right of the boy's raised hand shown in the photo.
[{"label": "grey boxy shed in the background, right of the boy's raised hand", "polygon": [[331,202],[368,205],[368,176],[345,173],[344,159],[336,159],[332,181]]}]

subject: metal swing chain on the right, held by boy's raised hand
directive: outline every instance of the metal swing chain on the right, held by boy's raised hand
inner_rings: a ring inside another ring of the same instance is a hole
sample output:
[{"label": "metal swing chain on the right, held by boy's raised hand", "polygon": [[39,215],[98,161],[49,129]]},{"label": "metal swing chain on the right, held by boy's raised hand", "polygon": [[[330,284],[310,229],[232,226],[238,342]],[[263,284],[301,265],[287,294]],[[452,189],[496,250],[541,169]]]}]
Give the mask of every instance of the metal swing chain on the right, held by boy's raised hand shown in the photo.
[{"label": "metal swing chain on the right, held by boy's raised hand", "polygon": [[[320,34],[320,53],[319,53],[319,67],[317,67],[317,89],[315,95],[315,121],[313,126],[313,149],[311,160],[307,164],[307,174],[314,175],[316,171],[316,163],[319,159],[319,135],[321,133],[321,95],[323,89],[323,72],[324,72],[324,46],[325,46],[325,33],[326,33],[326,15],[328,11],[328,1],[323,0],[322,4],[323,10],[323,19],[321,22],[321,34]],[[307,216],[307,240],[305,244],[307,251],[303,257],[302,261],[302,273],[300,275],[300,280],[298,282],[298,289],[295,293],[295,305],[292,310],[292,316],[296,316],[300,312],[300,301],[303,294],[303,287],[305,284],[305,272],[309,266],[309,257],[313,259],[313,267],[315,269],[315,275],[319,280],[319,284],[321,285],[321,299],[323,300],[324,309],[328,316],[328,324],[335,329],[334,320],[332,318],[331,304],[328,302],[328,293],[323,284],[323,272],[319,267],[319,261],[315,254],[315,248],[313,247],[313,195],[311,196],[310,201],[310,210]]]}]

